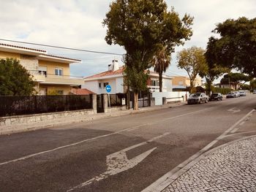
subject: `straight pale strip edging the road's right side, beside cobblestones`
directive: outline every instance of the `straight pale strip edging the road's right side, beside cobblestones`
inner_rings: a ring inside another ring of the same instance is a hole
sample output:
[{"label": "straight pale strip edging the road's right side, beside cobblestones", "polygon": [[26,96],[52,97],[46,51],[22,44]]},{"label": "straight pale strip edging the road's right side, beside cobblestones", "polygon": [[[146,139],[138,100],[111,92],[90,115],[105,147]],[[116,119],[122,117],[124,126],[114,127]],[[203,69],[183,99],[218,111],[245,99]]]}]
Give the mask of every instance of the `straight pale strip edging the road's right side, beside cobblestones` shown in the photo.
[{"label": "straight pale strip edging the road's right side, beside cobblestones", "polygon": [[223,134],[217,137],[217,139],[210,142],[208,145],[206,145],[206,147],[203,147],[203,149],[201,149],[200,151],[192,155],[190,158],[188,158],[186,161],[182,162],[181,164],[179,164],[178,166],[170,170],[170,172],[167,172],[165,175],[160,177],[157,181],[149,185],[147,188],[145,188],[141,192],[159,192],[164,190],[168,185],[170,185],[170,183],[173,183],[174,180],[176,180],[179,176],[181,176],[181,174],[184,174],[184,172],[187,172],[186,166],[189,163],[192,164],[192,161],[194,161],[195,158],[200,157],[200,155],[205,153],[209,148],[215,145],[220,139],[225,138],[226,135],[230,133],[230,131],[233,131],[233,129],[236,128],[236,126],[238,126],[239,123],[245,120],[254,111],[255,110],[248,112],[243,118],[238,120],[235,124],[233,124],[233,126],[228,128]]}]

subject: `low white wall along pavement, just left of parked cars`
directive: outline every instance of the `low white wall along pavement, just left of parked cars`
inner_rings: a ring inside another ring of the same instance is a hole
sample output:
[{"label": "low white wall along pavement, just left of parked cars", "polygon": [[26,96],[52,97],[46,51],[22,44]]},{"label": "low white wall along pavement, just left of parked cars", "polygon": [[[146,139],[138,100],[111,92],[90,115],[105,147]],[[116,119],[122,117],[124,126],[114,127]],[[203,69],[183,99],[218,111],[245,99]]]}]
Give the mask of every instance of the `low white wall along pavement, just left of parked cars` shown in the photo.
[{"label": "low white wall along pavement, just left of parked cars", "polygon": [[189,96],[189,92],[177,91],[177,92],[154,92],[152,96],[155,99],[155,105],[162,105],[163,98],[165,98],[166,103],[176,102],[176,101],[186,101],[186,94]]}]

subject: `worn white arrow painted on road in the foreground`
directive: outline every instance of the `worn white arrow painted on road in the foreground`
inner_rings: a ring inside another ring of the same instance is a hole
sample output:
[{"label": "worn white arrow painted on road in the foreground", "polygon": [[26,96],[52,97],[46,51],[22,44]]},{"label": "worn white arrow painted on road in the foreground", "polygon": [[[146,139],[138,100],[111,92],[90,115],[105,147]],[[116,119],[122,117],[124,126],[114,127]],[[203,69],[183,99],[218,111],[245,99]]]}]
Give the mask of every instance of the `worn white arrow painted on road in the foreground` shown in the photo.
[{"label": "worn white arrow painted on road in the foreground", "polygon": [[99,176],[91,178],[91,180],[87,180],[84,183],[81,183],[80,185],[75,186],[74,188],[69,189],[67,192],[69,191],[74,191],[77,188],[82,188],[86,185],[90,185],[93,182],[99,181],[99,180],[104,180],[105,178],[109,177],[110,175],[114,175],[114,174],[118,174],[120,172],[124,172],[127,171],[128,169],[131,169],[135,166],[137,166],[141,161],[143,161],[148,155],[150,155],[150,153],[152,153],[155,149],[157,149],[157,147],[152,148],[151,150],[147,150],[144,153],[141,153],[140,155],[136,156],[135,158],[132,159],[128,159],[127,158],[127,151],[128,150],[132,150],[136,147],[139,147],[141,145],[146,145],[149,142],[153,142],[156,139],[160,139],[162,137],[165,137],[166,135],[168,135],[170,133],[165,133],[162,134],[158,137],[154,137],[152,139],[149,139],[146,142],[141,142],[137,145],[132,145],[131,147],[127,147],[123,150],[120,150],[116,153],[112,153],[110,155],[107,156],[107,160],[106,160],[106,164],[108,166],[108,169],[106,172],[99,174]]}]

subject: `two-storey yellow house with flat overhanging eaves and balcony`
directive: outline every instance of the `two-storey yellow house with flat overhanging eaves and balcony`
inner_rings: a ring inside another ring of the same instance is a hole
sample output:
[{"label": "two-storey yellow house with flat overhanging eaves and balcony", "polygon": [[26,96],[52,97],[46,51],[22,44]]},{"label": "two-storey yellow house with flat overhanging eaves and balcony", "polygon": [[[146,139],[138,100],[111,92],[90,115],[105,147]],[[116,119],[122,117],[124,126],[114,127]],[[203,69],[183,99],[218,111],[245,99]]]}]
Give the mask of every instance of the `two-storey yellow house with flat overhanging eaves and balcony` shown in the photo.
[{"label": "two-storey yellow house with flat overhanging eaves and balcony", "polygon": [[46,50],[1,43],[0,58],[18,59],[37,82],[38,95],[50,93],[67,95],[72,87],[78,87],[83,83],[82,78],[72,78],[69,73],[69,64],[80,63],[78,59],[48,55]]}]

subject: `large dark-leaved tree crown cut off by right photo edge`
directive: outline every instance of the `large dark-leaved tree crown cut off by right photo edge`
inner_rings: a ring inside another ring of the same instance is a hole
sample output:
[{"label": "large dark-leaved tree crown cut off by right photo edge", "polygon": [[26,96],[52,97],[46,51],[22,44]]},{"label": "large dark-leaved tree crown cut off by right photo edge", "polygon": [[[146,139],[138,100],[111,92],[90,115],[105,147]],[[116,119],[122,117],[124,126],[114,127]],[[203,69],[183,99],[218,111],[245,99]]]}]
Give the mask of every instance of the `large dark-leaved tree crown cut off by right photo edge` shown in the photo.
[{"label": "large dark-leaved tree crown cut off by right photo edge", "polygon": [[217,24],[214,32],[217,42],[218,63],[230,69],[236,68],[256,77],[256,18],[228,19]]}]

